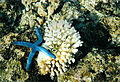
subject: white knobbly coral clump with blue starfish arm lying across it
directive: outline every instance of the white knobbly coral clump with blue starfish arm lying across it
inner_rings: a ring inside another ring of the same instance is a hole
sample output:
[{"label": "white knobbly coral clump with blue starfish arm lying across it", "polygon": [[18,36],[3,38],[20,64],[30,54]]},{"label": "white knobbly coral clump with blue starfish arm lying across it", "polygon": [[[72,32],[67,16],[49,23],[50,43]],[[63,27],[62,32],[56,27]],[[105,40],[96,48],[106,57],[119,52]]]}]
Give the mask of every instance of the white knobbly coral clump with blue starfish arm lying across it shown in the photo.
[{"label": "white knobbly coral clump with blue starfish arm lying across it", "polygon": [[74,55],[82,46],[80,34],[71,27],[66,20],[51,21],[48,27],[45,27],[44,40],[42,44],[46,49],[50,50],[56,56],[52,59],[44,53],[39,52],[37,63],[41,74],[50,73],[51,78],[55,75],[63,74],[67,70],[69,64],[74,63]]}]

